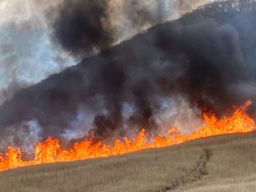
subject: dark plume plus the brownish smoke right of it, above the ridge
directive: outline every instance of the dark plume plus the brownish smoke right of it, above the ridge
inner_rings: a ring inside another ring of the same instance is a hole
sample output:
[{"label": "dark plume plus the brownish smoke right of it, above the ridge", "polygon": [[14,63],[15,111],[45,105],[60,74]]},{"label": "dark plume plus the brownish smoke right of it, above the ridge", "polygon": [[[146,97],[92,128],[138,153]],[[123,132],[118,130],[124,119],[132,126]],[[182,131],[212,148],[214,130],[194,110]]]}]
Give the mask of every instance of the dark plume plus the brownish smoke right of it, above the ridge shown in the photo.
[{"label": "dark plume plus the brownish smoke right of it, above the ridge", "polygon": [[109,48],[152,25],[165,22],[209,1],[64,1],[54,10],[54,40],[84,57]]}]

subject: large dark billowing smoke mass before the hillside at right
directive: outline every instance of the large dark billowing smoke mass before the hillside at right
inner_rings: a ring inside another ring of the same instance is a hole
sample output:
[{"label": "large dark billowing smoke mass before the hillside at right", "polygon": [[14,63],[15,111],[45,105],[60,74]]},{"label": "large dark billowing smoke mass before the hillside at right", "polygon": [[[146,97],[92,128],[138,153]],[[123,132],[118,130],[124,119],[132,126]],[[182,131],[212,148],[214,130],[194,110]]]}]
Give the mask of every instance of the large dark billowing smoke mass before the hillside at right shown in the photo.
[{"label": "large dark billowing smoke mass before the hillside at right", "polygon": [[237,102],[239,95],[230,92],[231,85],[253,81],[253,66],[245,63],[240,41],[234,26],[220,26],[212,19],[193,25],[174,24],[169,30],[163,26],[156,37],[167,57],[181,58],[177,67],[183,74],[177,77],[174,91],[189,93],[191,103],[215,112]]}]

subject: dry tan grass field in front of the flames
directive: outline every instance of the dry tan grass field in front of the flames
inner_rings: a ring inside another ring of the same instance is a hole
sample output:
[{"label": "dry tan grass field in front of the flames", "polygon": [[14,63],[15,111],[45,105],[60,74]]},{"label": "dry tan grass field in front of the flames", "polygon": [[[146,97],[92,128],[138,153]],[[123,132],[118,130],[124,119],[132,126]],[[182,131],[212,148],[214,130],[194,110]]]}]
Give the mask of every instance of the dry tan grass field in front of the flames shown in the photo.
[{"label": "dry tan grass field in front of the flames", "polygon": [[0,191],[256,191],[256,132],[0,173]]}]

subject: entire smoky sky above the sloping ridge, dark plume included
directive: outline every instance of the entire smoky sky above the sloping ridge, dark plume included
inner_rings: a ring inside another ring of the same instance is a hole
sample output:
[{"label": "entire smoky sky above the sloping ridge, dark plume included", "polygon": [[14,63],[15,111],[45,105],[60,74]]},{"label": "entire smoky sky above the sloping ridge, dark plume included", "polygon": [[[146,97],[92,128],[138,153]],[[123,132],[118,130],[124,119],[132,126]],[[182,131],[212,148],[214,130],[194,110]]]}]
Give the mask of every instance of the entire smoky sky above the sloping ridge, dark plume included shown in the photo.
[{"label": "entire smoky sky above the sloping ridge, dark plume included", "polygon": [[[180,10],[176,0],[158,2],[1,0],[0,103],[22,88],[74,65],[86,52],[89,56],[101,51],[207,1],[195,1],[188,9]],[[158,14],[160,3],[163,10]],[[139,25],[134,24],[137,19]],[[74,27],[79,29],[75,31]]]}]

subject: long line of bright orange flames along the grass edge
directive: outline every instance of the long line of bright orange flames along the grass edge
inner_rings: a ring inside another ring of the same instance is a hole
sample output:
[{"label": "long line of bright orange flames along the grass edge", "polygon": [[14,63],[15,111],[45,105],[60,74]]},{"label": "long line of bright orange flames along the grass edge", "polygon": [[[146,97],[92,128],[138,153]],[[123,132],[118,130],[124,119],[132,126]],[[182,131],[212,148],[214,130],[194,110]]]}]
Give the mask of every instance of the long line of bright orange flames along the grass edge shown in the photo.
[{"label": "long line of bright orange flames along the grass edge", "polygon": [[121,155],[128,152],[135,152],[142,149],[166,147],[170,145],[184,143],[203,137],[224,135],[227,133],[247,133],[254,130],[254,121],[246,113],[251,101],[247,101],[243,106],[236,107],[235,112],[229,117],[220,120],[214,114],[203,114],[204,126],[190,135],[182,135],[176,128],[168,131],[168,137],[155,136],[151,142],[146,140],[146,130],[142,129],[137,138],[115,140],[112,146],[102,144],[101,141],[94,141],[94,137],[85,139],[74,144],[71,149],[61,149],[58,139],[48,137],[39,142],[35,147],[35,156],[32,160],[22,160],[22,151],[13,147],[7,147],[5,155],[0,154],[0,171],[11,168],[33,166],[43,163],[70,162],[75,160],[99,158],[114,155]]}]

